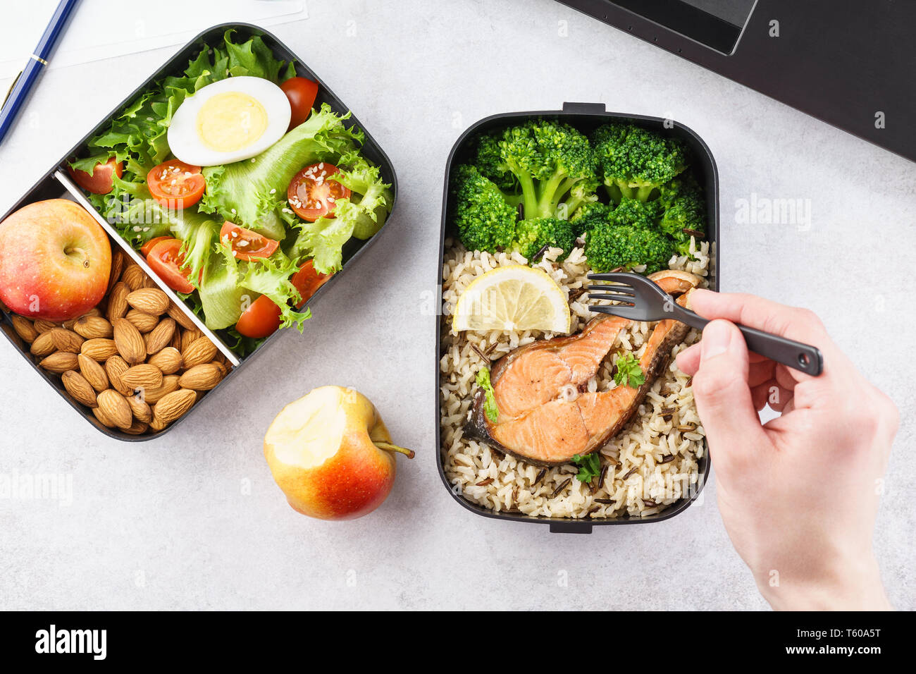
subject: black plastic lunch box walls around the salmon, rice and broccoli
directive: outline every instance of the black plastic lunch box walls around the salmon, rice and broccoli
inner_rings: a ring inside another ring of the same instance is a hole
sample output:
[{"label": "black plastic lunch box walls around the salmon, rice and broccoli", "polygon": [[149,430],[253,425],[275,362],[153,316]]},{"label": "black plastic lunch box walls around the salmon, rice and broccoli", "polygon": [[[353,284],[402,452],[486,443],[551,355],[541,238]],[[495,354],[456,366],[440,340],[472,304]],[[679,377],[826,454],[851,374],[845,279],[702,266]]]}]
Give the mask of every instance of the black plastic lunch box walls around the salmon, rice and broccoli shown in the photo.
[{"label": "black plastic lunch box walls around the salmon, rice and broccoli", "polygon": [[[449,159],[445,164],[445,186],[442,193],[442,232],[439,238],[439,260],[440,265],[437,269],[436,283],[437,287],[442,285],[442,261],[445,256],[445,238],[453,237],[454,233],[450,230],[448,222],[449,209],[449,181],[451,178],[452,167],[467,160],[468,152],[472,146],[472,141],[481,132],[488,131],[497,127],[506,127],[511,124],[518,124],[530,117],[553,117],[560,118],[573,127],[579,128],[585,133],[589,133],[594,127],[607,122],[609,119],[623,119],[634,122],[640,126],[650,127],[653,130],[660,131],[669,136],[682,138],[687,143],[692,152],[692,169],[695,171],[697,180],[703,183],[706,193],[706,212],[708,227],[706,230],[706,240],[711,244],[710,248],[710,273],[708,282],[713,290],[719,289],[719,280],[717,275],[719,262],[719,173],[715,168],[715,160],[712,152],[703,142],[703,139],[696,135],[690,128],[684,127],[676,122],[669,122],[661,117],[650,117],[641,115],[626,115],[623,113],[612,113],[605,111],[604,104],[594,103],[564,103],[563,109],[559,111],[543,112],[517,112],[503,113],[481,119],[464,131],[464,133],[455,141]],[[440,298],[440,302],[442,299]],[[678,503],[673,503],[660,514],[649,515],[648,517],[619,517],[616,519],[571,519],[568,517],[533,517],[521,513],[496,513],[466,500],[458,493],[453,486],[449,484],[445,477],[445,470],[442,466],[442,429],[440,426],[441,419],[441,394],[439,390],[440,373],[439,363],[442,359],[442,315],[436,315],[436,428],[437,436],[440,438],[437,443],[438,451],[436,452],[436,465],[439,467],[439,477],[442,478],[442,484],[454,500],[473,513],[490,517],[496,520],[507,520],[510,522],[530,522],[535,524],[547,524],[551,527],[551,532],[570,533],[570,534],[591,534],[593,525],[634,525],[647,524],[649,522],[661,522],[667,520],[676,514],[682,513],[690,504],[696,500],[703,484],[709,475],[709,447],[703,452],[703,459],[699,460],[699,477],[690,497],[683,498]]]}]

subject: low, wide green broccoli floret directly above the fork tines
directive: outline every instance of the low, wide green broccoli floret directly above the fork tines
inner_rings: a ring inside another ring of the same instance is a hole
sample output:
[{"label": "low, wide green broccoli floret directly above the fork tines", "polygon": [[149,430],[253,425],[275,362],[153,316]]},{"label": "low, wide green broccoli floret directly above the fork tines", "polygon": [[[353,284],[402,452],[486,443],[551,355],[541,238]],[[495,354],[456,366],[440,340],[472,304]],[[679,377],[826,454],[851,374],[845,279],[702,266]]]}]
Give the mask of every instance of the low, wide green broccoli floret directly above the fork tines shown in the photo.
[{"label": "low, wide green broccoli floret directly above the fork tines", "polygon": [[585,257],[594,271],[631,269],[646,265],[645,273],[668,269],[674,242],[652,229],[633,225],[594,227],[585,235]]}]

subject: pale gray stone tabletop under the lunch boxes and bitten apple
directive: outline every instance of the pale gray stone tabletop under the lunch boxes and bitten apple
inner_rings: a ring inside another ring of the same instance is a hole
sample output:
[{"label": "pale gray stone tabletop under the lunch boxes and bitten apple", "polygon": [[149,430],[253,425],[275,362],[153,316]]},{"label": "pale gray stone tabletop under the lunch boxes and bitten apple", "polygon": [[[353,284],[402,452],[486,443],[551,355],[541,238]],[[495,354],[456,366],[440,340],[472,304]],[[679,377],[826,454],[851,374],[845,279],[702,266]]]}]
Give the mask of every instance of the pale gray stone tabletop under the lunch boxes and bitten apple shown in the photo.
[{"label": "pale gray stone tabletop under the lunch boxes and bitten apple", "polygon": [[[215,24],[224,17],[213,5]],[[101,436],[4,343],[0,472],[71,475],[73,498],[0,499],[0,606],[766,608],[712,484],[671,521],[560,536],[465,512],[437,474],[433,318],[423,306],[435,291],[449,149],[483,116],[595,101],[697,131],[721,177],[724,289],[816,309],[900,406],[875,545],[892,601],[916,608],[914,366],[903,349],[916,333],[916,166],[551,0],[309,10],[273,30],[397,167],[387,233],[313,305],[305,335],[279,337],[186,424],[145,444]],[[30,123],[0,146],[0,210],[172,51],[50,69]],[[754,194],[804,200],[810,226],[736,222]],[[418,452],[398,460],[387,502],[348,523],[289,509],[261,453],[280,407],[328,383],[365,392]]]}]

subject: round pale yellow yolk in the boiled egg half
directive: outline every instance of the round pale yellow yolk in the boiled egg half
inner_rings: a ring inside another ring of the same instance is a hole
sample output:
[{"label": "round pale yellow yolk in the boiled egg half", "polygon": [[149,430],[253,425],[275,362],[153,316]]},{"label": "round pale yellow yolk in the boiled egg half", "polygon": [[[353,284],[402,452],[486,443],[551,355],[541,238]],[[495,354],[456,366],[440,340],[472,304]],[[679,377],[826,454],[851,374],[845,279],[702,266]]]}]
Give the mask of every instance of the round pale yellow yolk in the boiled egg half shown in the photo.
[{"label": "round pale yellow yolk in the boiled egg half", "polygon": [[197,136],[209,149],[233,152],[260,138],[267,129],[267,111],[256,98],[241,92],[216,94],[197,113]]}]

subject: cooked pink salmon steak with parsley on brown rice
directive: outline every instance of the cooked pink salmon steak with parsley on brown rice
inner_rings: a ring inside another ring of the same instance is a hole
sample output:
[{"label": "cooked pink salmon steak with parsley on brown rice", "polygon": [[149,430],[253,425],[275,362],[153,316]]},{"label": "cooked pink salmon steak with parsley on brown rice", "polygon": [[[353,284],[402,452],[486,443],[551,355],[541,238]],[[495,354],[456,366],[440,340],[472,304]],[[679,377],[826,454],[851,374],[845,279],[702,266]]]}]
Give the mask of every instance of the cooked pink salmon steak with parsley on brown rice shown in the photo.
[{"label": "cooked pink salmon steak with parsley on brown rice", "polygon": [[[649,279],[666,293],[680,295],[676,302],[688,307],[690,293],[701,281],[685,271],[658,271]],[[540,466],[570,463],[577,454],[604,447],[637,413],[657,376],[667,369],[671,349],[690,329],[678,321],[659,321],[639,357],[643,383],[588,392],[588,381],[620,331],[632,323],[599,315],[576,335],[531,342],[498,359],[490,370],[496,421],[486,416],[486,392],[478,387],[465,436]]]}]

